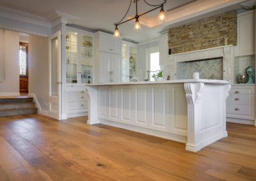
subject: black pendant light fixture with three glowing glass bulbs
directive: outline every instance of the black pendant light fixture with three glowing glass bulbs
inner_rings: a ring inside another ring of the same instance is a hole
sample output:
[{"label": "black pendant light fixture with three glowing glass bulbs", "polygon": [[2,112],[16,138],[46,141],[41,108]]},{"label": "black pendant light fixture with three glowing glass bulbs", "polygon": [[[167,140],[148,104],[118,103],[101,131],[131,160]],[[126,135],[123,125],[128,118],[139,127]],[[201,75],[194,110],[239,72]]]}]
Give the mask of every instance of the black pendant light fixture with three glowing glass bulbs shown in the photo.
[{"label": "black pendant light fixture with three glowing glass bulbs", "polygon": [[[126,17],[126,15],[127,15],[128,11],[129,11],[130,8],[131,8],[132,1],[133,1],[133,3],[136,4],[136,15],[135,15],[134,18],[130,18],[129,20],[123,21],[124,18]],[[126,11],[124,17],[123,17],[119,22],[117,22],[117,23],[114,24],[115,27],[116,27],[116,28],[115,28],[115,33],[114,33],[114,35],[113,35],[114,37],[116,37],[116,38],[120,38],[120,37],[121,37],[121,36],[120,36],[120,33],[119,33],[119,31],[118,31],[117,26],[120,25],[120,24],[124,24],[125,22],[129,22],[130,20],[136,19],[133,29],[134,29],[134,30],[141,30],[141,25],[140,25],[140,22],[139,22],[139,17],[141,17],[142,15],[145,15],[145,14],[151,12],[151,11],[157,10],[158,8],[161,8],[160,13],[159,13],[159,16],[158,16],[159,20],[160,20],[161,22],[163,22],[163,21],[166,19],[165,15],[164,15],[164,4],[166,3],[166,0],[164,0],[163,3],[157,4],[157,5],[149,4],[146,0],[143,0],[146,4],[148,4],[148,6],[154,6],[154,7],[156,7],[156,8],[153,8],[152,10],[149,10],[149,11],[147,11],[147,12],[145,12],[145,13],[141,13],[140,15],[138,15],[138,1],[140,1],[140,0],[131,0],[131,1],[130,1],[130,4],[129,4],[129,8],[128,8],[128,10]]]}]

